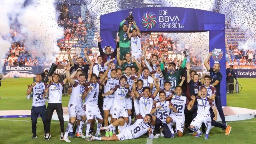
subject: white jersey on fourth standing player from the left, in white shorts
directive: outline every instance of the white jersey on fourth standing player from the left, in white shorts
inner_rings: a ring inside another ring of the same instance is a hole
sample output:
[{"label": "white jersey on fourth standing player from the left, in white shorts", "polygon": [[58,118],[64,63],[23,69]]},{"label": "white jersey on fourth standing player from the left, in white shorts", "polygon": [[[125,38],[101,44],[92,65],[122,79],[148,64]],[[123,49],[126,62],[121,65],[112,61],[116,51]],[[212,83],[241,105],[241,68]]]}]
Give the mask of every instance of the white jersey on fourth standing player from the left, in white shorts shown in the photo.
[{"label": "white jersey on fourth standing player from the left, in white shorts", "polygon": [[84,100],[84,105],[97,105],[98,98],[99,98],[99,88],[100,88],[101,81],[98,80],[95,84],[90,83],[89,86],[84,88],[84,93],[88,91],[89,87],[92,86],[93,88],[90,90],[88,95]]}]

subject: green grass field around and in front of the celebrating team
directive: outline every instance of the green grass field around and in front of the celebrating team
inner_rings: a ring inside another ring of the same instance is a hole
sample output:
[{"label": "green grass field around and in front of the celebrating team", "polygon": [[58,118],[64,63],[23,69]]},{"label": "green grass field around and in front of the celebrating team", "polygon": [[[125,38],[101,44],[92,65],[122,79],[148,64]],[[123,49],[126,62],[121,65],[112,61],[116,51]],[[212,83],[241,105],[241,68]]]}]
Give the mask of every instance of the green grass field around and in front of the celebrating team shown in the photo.
[{"label": "green grass field around and in front of the celebrating team", "polygon": [[[32,100],[26,99],[27,85],[33,82],[32,78],[7,78],[2,80],[2,86],[0,87],[0,110],[30,110]],[[255,78],[239,78],[239,83],[242,85],[242,90],[239,93],[227,94],[227,105],[234,107],[244,107],[250,109],[256,109],[254,91],[252,86],[256,82]],[[68,104],[69,96],[63,96],[63,106]],[[0,144],[33,144],[33,143],[65,143],[59,139],[60,127],[59,122],[52,120],[51,123],[51,134],[52,137],[50,141],[44,141],[43,137],[43,124],[41,118],[38,119],[37,124],[37,139],[31,139],[31,120],[30,118],[0,118]],[[138,139],[126,140],[126,141],[93,141],[85,142],[81,138],[70,138],[72,143],[106,143],[106,144],[161,144],[161,143],[211,143],[211,144],[245,144],[245,143],[255,143],[256,137],[256,118],[228,122],[232,126],[232,131],[230,135],[226,136],[225,132],[220,128],[213,128],[209,134],[209,140],[203,139],[204,135],[200,138],[194,138],[191,135],[184,132],[182,138],[175,136],[174,139],[147,139],[144,135]],[[66,128],[67,122],[65,123]],[[103,134],[103,133],[102,133]]]}]

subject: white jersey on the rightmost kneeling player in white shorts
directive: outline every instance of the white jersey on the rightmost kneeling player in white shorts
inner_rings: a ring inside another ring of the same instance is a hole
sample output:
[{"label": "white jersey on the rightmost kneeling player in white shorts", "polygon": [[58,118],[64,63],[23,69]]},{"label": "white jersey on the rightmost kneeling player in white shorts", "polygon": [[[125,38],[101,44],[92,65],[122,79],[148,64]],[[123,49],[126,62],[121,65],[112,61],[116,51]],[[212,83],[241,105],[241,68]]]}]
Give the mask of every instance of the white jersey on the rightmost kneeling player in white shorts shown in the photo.
[{"label": "white jersey on the rightmost kneeling player in white shorts", "polygon": [[201,98],[199,96],[196,97],[195,101],[197,101],[197,116],[205,116],[210,115],[210,108],[214,106],[212,100],[210,98]]}]

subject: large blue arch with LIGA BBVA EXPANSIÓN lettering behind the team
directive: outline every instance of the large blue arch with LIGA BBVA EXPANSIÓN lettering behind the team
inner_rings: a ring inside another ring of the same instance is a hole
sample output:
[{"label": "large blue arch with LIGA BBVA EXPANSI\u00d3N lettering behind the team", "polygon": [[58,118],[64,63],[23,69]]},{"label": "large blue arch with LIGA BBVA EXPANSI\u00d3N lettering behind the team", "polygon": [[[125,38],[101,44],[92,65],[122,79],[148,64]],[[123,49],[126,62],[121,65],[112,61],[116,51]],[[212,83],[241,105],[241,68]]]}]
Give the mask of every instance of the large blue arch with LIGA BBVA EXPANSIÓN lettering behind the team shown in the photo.
[{"label": "large blue arch with LIGA BBVA EXPANSI\u00d3N lettering behind the team", "polygon": [[[179,8],[151,7],[129,9],[100,17],[100,36],[104,40],[102,46],[115,47],[113,39],[119,29],[120,22],[132,11],[134,20],[141,32],[206,32],[209,31],[209,51],[220,50],[222,58],[217,60],[223,77],[221,80],[222,105],[227,105],[225,78],[225,15],[211,11]],[[155,21],[154,21],[155,20]],[[144,23],[143,23],[144,22]],[[148,22],[148,23],[146,23]],[[167,27],[169,25],[169,27]],[[165,26],[163,28],[163,26]],[[213,58],[210,66],[214,65]],[[225,86],[224,86],[225,85]]]}]

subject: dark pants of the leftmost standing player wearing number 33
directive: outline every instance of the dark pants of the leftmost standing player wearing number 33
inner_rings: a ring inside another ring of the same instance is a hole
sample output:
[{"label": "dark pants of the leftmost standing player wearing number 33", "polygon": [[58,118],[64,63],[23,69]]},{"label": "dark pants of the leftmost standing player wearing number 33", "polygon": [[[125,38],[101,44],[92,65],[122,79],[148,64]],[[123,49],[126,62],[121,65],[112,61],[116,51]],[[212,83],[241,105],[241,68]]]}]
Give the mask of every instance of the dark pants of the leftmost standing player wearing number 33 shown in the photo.
[{"label": "dark pants of the leftmost standing player wearing number 33", "polygon": [[32,106],[31,108],[31,125],[32,125],[32,133],[36,134],[36,123],[37,123],[37,118],[40,115],[44,124],[44,132],[46,129],[46,106]]}]

